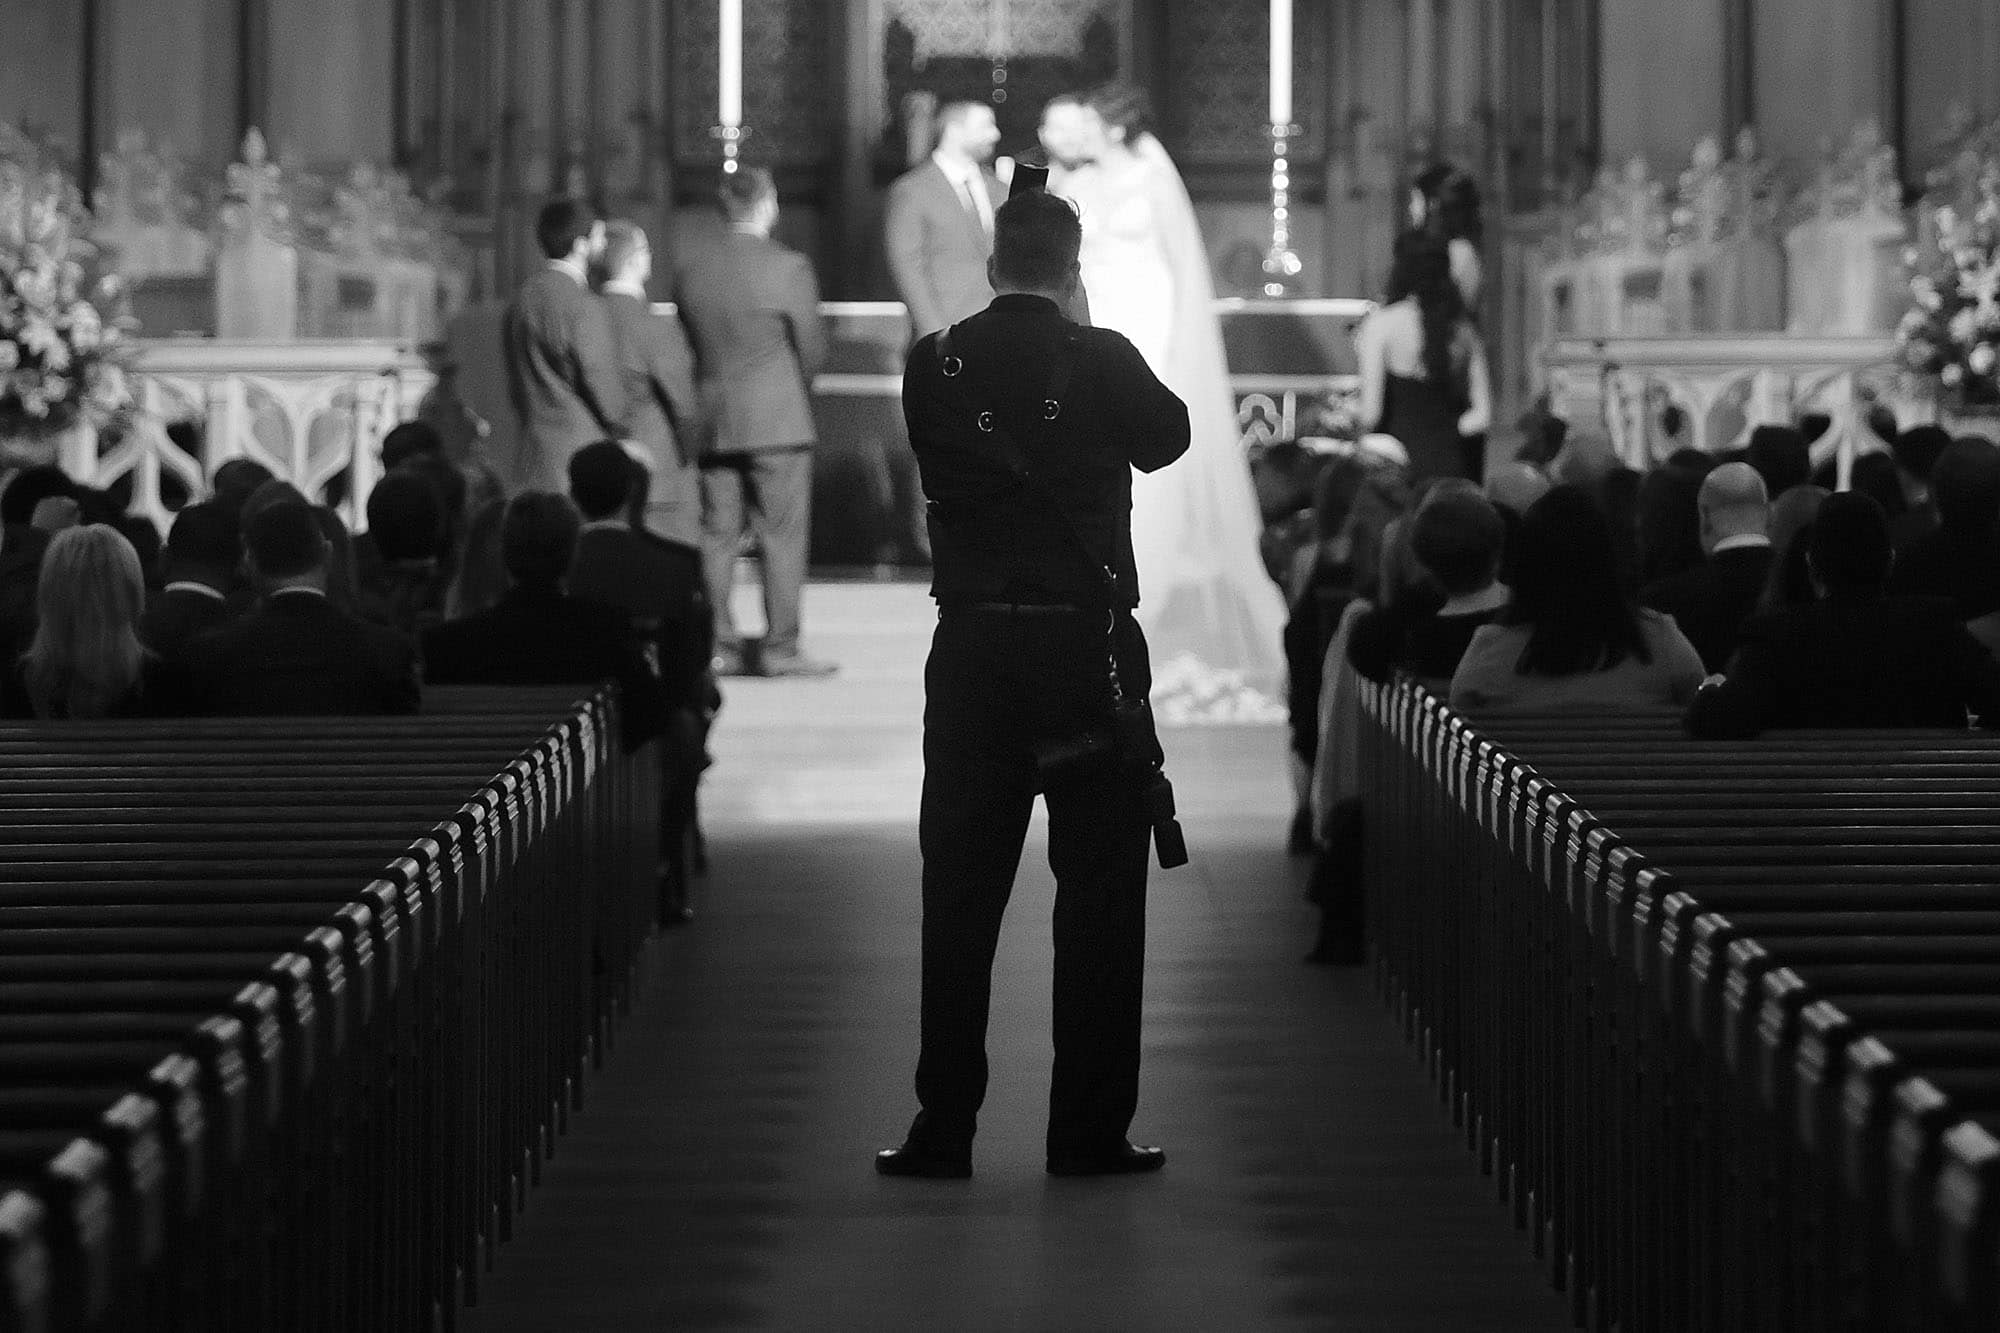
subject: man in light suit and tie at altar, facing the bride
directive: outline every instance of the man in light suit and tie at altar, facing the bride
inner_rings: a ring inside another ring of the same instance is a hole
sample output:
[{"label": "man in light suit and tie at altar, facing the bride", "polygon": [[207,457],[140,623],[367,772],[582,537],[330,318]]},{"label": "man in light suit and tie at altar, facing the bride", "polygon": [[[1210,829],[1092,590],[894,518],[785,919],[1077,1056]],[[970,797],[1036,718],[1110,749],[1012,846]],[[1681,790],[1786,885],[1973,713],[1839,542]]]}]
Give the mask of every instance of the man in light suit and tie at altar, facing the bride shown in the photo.
[{"label": "man in light suit and tie at altar, facing the bride", "polygon": [[946,102],[936,132],[936,152],[888,188],[882,216],[888,270],[918,338],[978,314],[994,298],[986,260],[994,252],[994,210],[1006,198],[988,170],[1000,144],[992,106]]}]

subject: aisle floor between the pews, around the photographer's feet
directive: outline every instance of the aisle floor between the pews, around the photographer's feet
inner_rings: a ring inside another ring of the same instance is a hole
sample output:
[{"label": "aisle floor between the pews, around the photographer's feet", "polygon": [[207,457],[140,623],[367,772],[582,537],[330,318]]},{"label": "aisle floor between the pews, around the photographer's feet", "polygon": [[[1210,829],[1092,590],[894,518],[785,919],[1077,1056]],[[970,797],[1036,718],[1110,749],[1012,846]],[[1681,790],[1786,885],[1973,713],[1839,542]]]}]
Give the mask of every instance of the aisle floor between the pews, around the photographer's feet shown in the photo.
[{"label": "aisle floor between the pews, around the photographer's feet", "polygon": [[1154,873],[1134,1139],[1042,1173],[1040,819],[994,969],[974,1179],[874,1175],[914,1111],[928,600],[814,584],[812,683],[730,683],[714,869],[498,1253],[472,1333],[1562,1329],[1362,971],[1300,963],[1280,729],[1168,733],[1194,865]]}]

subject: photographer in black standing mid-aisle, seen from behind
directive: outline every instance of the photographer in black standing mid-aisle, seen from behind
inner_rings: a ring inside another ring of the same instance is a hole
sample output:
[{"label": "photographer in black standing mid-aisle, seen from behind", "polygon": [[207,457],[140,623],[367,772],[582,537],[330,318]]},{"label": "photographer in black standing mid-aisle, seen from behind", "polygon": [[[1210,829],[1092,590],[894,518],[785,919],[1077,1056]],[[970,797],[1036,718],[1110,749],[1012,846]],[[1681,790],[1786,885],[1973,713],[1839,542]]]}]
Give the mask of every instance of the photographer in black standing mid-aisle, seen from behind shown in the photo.
[{"label": "photographer in black standing mid-aisle, seen from behind", "polygon": [[1056,873],[1048,1171],[1154,1171],[1134,1147],[1146,857],[1186,861],[1132,620],[1132,472],[1188,450],[1188,410],[1088,328],[1076,208],[1016,192],[996,298],[918,340],[904,416],[928,498],[938,630],[924,675],[924,995],[908,1141],[884,1175],[968,1177],[994,947],[1036,793]]}]

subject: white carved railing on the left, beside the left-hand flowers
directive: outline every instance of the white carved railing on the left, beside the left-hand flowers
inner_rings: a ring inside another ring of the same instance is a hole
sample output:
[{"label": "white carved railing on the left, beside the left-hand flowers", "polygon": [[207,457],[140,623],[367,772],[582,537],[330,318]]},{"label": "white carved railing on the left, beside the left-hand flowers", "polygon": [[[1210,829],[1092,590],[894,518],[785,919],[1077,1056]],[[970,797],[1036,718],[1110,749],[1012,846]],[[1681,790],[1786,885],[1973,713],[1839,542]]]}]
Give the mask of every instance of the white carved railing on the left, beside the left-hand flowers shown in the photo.
[{"label": "white carved railing on the left, beside the left-hand flowers", "polygon": [[[414,416],[432,374],[414,348],[394,342],[142,342],[138,418],[116,444],[62,440],[60,462],[92,486],[132,478],[134,514],[166,526],[162,480],[202,494],[216,466],[254,458],[314,500],[346,472],[342,518],[364,526],[362,504],[380,476],[380,444]],[[200,424],[200,452],[174,444],[170,422]]]}]

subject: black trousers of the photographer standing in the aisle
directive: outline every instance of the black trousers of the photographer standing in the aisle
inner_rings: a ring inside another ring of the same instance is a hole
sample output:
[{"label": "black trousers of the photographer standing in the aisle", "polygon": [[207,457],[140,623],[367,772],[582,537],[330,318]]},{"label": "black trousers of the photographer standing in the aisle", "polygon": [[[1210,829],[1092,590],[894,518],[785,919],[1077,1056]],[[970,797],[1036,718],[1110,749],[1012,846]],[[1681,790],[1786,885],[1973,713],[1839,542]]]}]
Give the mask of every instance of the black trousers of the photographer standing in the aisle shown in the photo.
[{"label": "black trousers of the photographer standing in the aisle", "polygon": [[[970,1143],[986,1097],[986,1009],[1000,917],[1034,809],[1034,747],[1104,727],[1104,612],[946,608],[924,671],[924,1019],[912,1139]],[[1152,689],[1146,640],[1120,616],[1124,689]],[[1048,1149],[1124,1143],[1138,1107],[1150,825],[1114,763],[1058,779],[1056,1069]]]}]

